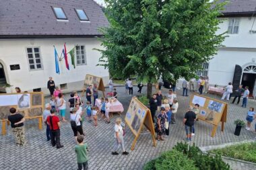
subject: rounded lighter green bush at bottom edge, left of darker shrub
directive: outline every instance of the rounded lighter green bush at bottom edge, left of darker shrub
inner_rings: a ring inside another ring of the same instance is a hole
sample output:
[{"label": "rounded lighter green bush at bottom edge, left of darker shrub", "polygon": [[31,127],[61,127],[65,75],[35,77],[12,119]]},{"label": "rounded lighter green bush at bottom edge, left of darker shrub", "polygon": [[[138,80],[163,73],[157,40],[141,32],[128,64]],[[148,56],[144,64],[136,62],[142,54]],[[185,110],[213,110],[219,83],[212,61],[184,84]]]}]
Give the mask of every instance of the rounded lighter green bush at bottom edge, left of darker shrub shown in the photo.
[{"label": "rounded lighter green bush at bottom edge, left of darker shrub", "polygon": [[143,167],[144,170],[196,170],[192,160],[188,159],[181,152],[172,150],[163,153],[155,160],[150,161]]}]

